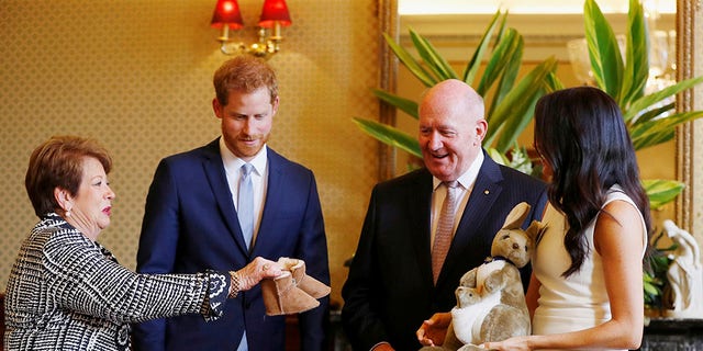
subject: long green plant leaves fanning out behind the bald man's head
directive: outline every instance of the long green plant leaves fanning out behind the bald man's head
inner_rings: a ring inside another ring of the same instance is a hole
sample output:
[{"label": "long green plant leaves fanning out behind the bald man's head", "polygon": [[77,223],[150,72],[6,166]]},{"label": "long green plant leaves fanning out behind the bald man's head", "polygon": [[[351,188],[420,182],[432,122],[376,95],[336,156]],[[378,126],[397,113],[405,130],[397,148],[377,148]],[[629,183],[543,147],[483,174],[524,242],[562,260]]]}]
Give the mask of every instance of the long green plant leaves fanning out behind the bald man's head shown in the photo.
[{"label": "long green plant leaves fanning out behind the bald man's head", "polygon": [[[410,30],[410,37],[420,59],[413,57],[389,35],[384,34],[384,38],[401,64],[425,87],[433,87],[446,79],[460,79],[487,99],[486,118],[489,122],[489,129],[483,145],[489,148],[491,157],[498,161],[529,172],[532,163],[524,161],[527,159],[525,150],[516,147],[515,140],[532,121],[537,99],[547,91],[561,88],[561,84],[554,75],[557,67],[554,57],[549,57],[520,81],[517,80],[524,41],[516,30],[506,26],[506,16],[507,13],[502,11],[493,15],[460,76],[437,53],[429,41],[413,30]],[[487,55],[486,69],[479,77],[479,67]],[[380,100],[417,120],[417,102],[380,89],[372,92]],[[354,117],[354,122],[376,139],[413,156],[422,157],[420,145],[414,136],[369,118]],[[506,157],[509,151],[513,154],[512,163]]]}]

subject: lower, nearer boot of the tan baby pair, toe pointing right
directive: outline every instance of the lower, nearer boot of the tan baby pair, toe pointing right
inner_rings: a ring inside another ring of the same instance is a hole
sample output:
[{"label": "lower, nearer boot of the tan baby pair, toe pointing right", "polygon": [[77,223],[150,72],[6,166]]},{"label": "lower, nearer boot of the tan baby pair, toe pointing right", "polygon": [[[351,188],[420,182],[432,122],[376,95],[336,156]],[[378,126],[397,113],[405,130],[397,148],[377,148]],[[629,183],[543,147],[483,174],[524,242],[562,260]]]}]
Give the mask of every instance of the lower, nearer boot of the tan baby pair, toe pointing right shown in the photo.
[{"label": "lower, nearer boot of the tan baby pair, toe pointing right", "polygon": [[295,286],[289,271],[282,271],[281,275],[274,279],[263,280],[261,295],[269,316],[298,314],[320,306],[319,301]]}]

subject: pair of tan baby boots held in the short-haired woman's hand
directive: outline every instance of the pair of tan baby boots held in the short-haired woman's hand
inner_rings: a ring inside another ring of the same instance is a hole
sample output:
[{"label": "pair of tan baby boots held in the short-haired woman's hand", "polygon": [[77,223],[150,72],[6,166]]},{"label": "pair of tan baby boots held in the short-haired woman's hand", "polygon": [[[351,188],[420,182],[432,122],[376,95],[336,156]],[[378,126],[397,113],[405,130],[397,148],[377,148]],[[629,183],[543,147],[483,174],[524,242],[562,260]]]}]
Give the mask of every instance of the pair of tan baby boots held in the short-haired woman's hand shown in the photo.
[{"label": "pair of tan baby boots held in the short-haired woman's hand", "polygon": [[261,281],[266,314],[291,315],[320,306],[317,298],[330,294],[330,286],[305,274],[305,261],[282,257],[281,275]]}]

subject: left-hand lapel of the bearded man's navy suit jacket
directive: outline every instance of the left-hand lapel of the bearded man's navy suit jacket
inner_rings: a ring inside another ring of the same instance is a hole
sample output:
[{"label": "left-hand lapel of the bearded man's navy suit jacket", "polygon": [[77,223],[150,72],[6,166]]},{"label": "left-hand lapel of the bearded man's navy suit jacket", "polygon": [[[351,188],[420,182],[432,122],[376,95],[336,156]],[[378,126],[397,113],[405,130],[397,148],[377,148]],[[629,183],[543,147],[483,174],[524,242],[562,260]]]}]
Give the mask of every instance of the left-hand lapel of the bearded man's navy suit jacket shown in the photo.
[{"label": "left-hand lapel of the bearded man's navy suit jacket", "polygon": [[203,170],[212,194],[217,202],[217,208],[220,210],[220,216],[227,225],[230,234],[237,244],[237,247],[245,256],[248,256],[246,244],[244,242],[244,236],[242,235],[242,228],[239,227],[239,219],[237,218],[234,203],[232,202],[232,193],[230,192],[230,185],[227,184],[227,178],[225,176],[224,166],[222,165],[222,156],[220,155],[220,139],[208,144],[205,146],[205,154],[203,158]]}]

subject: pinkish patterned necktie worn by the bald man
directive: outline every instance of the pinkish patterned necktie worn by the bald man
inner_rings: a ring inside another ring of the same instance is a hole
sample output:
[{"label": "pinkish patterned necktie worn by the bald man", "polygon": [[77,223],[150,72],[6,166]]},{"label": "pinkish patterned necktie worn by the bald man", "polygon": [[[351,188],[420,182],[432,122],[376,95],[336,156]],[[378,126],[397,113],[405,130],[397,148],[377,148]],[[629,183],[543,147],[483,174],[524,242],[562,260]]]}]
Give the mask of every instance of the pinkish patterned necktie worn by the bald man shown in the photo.
[{"label": "pinkish patterned necktie worn by the bald man", "polygon": [[447,186],[447,196],[442,204],[435,242],[432,246],[432,275],[435,284],[442,271],[442,265],[451,246],[451,233],[454,231],[454,217],[457,212],[457,197],[459,183],[454,181],[443,182]]}]

